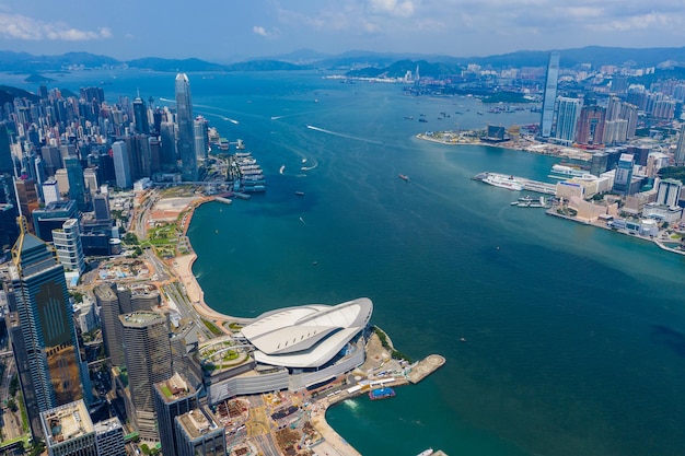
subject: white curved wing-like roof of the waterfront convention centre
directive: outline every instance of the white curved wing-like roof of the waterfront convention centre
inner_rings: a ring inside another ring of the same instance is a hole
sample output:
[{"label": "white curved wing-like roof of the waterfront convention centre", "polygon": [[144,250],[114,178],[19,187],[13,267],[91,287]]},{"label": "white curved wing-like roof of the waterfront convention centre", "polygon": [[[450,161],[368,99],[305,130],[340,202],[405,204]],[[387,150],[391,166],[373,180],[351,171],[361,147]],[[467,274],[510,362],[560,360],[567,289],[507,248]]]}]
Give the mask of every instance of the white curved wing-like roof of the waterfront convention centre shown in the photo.
[{"label": "white curved wing-like roof of the waterfront convention centre", "polygon": [[318,367],[369,324],[373,304],[359,297],[335,306],[287,307],[259,316],[241,332],[255,360],[287,367]]}]

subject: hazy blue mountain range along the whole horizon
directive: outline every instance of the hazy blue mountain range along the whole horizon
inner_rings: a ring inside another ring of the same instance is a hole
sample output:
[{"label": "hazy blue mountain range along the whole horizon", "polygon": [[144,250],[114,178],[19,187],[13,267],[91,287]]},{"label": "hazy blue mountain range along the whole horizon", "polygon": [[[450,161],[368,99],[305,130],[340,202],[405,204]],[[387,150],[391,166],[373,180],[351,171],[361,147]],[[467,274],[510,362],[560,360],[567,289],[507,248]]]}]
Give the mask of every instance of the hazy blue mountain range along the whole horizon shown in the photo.
[{"label": "hazy blue mountain range along the whole horizon", "polygon": [[[591,63],[593,68],[603,65],[634,67],[685,67],[685,47],[680,48],[618,48],[589,46],[577,49],[560,49],[561,67],[572,68],[580,63]],[[26,52],[0,50],[0,71],[38,73],[65,71],[72,68],[136,68],[153,71],[290,71],[311,68],[332,71],[364,70],[373,75],[387,72],[398,74],[407,70],[409,61],[421,61],[421,74],[450,74],[458,66],[476,63],[481,67],[502,69],[522,67],[544,67],[547,65],[548,50],[520,50],[486,57],[453,57],[443,55],[420,55],[416,52],[372,52],[350,50],[335,56],[312,49],[299,49],[290,54],[243,62],[220,65],[196,58],[164,59],[147,57],[120,61],[107,56],[89,52],[67,52],[59,56],[32,56]],[[415,66],[416,67],[416,66]],[[425,68],[425,70],[423,70]],[[375,69],[375,70],[371,70]],[[411,68],[414,70],[415,68]],[[378,70],[378,71],[376,71]],[[360,73],[361,74],[361,73]],[[403,74],[398,74],[403,75]]]}]

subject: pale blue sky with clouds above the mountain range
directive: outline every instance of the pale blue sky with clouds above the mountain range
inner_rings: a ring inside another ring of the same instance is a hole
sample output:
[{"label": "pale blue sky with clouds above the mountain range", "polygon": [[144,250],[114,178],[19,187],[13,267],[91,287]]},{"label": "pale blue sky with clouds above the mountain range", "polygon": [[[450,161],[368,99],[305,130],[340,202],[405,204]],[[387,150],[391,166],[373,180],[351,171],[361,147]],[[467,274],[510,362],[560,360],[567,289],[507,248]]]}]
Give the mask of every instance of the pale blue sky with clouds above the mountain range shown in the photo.
[{"label": "pale blue sky with clouds above the mountain range", "polygon": [[231,62],[685,46],[684,0],[0,0],[0,50]]}]

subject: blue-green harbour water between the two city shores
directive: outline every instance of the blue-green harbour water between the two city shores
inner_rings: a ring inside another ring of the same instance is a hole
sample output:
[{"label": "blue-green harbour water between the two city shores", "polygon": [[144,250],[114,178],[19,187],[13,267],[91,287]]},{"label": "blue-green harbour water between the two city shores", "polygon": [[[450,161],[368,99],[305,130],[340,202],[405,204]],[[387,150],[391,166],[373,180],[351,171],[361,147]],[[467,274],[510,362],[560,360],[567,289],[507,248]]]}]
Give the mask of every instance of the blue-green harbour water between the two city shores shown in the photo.
[{"label": "blue-green harbour water between the two city shores", "polygon": [[[104,79],[112,101],[174,97],[174,74],[59,78],[74,90]],[[398,350],[446,358],[393,399],[328,411],[364,456],[685,454],[685,257],[511,207],[520,194],[471,179],[545,179],[556,159],[415,138],[537,115],[313,72],[189,78],[196,114],[242,138],[268,186],[197,210],[207,302],[257,316],[368,296]]]}]

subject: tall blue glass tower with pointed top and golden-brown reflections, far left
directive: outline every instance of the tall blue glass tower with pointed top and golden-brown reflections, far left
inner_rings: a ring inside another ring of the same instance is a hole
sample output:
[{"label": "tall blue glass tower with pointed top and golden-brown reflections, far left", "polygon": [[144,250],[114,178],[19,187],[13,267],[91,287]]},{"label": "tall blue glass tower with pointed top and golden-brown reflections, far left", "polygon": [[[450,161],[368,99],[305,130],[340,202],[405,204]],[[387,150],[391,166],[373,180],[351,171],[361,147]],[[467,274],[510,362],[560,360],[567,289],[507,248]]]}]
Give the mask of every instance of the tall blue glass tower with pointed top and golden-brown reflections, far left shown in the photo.
[{"label": "tall blue glass tower with pointed top and golden-brown reflections, far left", "polygon": [[9,271],[20,324],[10,334],[35,430],[40,412],[81,399],[84,391],[90,401],[90,378],[81,361],[65,269],[54,250],[22,231]]}]

